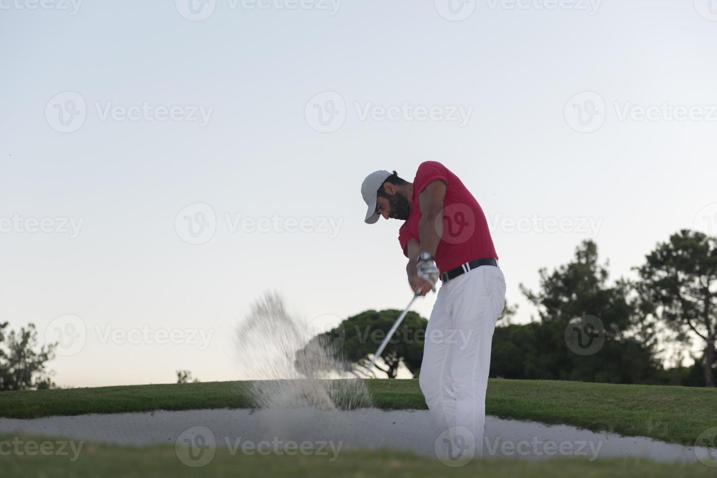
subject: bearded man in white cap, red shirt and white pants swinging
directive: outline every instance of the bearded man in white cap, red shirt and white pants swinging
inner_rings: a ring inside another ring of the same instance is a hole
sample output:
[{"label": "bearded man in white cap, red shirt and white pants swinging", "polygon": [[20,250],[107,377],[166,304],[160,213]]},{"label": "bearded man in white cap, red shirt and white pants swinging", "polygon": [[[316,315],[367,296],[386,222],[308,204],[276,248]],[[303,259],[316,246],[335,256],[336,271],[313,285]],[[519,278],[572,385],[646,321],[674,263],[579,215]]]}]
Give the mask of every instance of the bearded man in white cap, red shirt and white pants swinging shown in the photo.
[{"label": "bearded man in white cap, red shirt and white pants swinging", "polygon": [[366,223],[379,216],[404,221],[399,243],[409,259],[412,290],[426,295],[439,278],[442,282],[428,321],[419,383],[441,431],[456,444],[457,436],[475,440],[480,456],[490,344],[505,305],[505,278],[483,209],[436,161],[422,163],[412,183],[396,171],[371,173],[361,194],[369,206]]}]

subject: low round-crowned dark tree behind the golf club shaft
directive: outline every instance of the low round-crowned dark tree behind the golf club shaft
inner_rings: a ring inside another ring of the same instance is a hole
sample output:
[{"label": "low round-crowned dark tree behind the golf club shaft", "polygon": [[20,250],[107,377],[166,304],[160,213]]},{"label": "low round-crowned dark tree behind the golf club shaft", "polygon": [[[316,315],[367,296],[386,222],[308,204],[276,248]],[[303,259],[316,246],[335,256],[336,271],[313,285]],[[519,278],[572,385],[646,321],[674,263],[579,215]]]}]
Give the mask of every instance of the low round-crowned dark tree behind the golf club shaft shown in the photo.
[{"label": "low round-crowned dark tree behind the golf club shaft", "polygon": [[[327,348],[326,344],[334,343],[340,345],[338,350],[332,349],[339,360],[325,360],[326,366],[341,367],[340,372],[351,372],[360,376],[401,312],[395,309],[366,310],[348,317],[333,330],[312,338],[305,348],[296,353],[297,361],[305,360],[307,355],[315,353],[311,348],[316,348],[316,344],[323,344],[323,348]],[[416,312],[408,312],[384,352],[381,353],[384,365],[376,363],[376,368],[386,373],[388,378],[396,378],[399,365],[403,363],[414,376],[417,376],[423,359],[427,323],[428,320]],[[331,348],[331,345],[328,347]],[[298,368],[301,369],[300,364]]]}]

